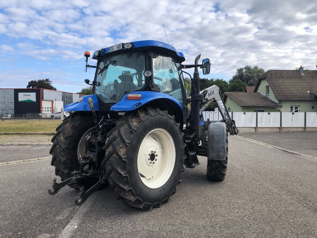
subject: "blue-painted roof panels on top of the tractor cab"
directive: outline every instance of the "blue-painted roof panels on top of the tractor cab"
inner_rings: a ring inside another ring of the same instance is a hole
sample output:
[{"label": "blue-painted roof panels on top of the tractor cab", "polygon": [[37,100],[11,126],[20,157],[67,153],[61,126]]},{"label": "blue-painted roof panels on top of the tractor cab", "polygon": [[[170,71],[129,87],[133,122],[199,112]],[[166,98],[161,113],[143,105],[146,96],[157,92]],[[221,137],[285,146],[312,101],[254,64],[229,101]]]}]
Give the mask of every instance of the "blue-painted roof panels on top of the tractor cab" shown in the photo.
[{"label": "blue-painted roof panels on top of the tractor cab", "polygon": [[[126,42],[127,43],[127,42]],[[177,57],[180,61],[180,63],[185,61],[185,56],[182,52],[178,52],[173,46],[166,44],[161,41],[154,41],[154,40],[144,40],[144,41],[133,41],[129,42],[133,44],[133,48],[145,48],[145,49],[155,49],[157,48],[158,51],[165,51],[172,53],[175,57]],[[101,49],[101,55],[109,53],[109,48]],[[95,54],[93,54],[93,58],[95,57]]]}]

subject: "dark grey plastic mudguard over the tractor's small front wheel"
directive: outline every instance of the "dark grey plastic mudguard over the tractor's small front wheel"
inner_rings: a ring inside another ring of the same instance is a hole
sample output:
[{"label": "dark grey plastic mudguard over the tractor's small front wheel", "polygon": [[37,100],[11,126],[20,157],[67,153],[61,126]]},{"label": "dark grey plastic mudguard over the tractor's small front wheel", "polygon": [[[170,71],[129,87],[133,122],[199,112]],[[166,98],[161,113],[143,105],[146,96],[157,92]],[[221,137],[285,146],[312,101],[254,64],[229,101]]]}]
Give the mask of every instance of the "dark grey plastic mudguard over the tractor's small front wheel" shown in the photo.
[{"label": "dark grey plastic mudguard over the tractor's small front wheel", "polygon": [[212,122],[208,127],[208,160],[226,160],[227,126],[224,122]]}]

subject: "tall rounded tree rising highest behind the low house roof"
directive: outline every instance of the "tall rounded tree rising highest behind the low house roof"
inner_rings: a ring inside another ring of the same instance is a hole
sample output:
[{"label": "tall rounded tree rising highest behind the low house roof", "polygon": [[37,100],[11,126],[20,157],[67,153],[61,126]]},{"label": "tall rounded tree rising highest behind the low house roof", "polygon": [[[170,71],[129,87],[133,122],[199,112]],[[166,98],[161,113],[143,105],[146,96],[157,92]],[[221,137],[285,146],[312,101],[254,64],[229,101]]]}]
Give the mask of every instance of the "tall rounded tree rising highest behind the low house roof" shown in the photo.
[{"label": "tall rounded tree rising highest behind the low house roof", "polygon": [[255,86],[257,79],[264,74],[264,69],[250,65],[238,68],[236,74],[232,76],[232,79],[240,79],[242,82],[246,83],[248,86]]}]

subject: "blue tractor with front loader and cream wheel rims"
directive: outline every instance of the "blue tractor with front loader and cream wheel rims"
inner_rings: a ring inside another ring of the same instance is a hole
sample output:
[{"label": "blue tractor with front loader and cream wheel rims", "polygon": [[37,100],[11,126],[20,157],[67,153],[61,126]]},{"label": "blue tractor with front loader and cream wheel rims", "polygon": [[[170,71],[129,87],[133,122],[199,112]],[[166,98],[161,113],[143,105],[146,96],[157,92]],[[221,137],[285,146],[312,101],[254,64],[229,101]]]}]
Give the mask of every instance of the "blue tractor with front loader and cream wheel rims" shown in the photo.
[{"label": "blue tractor with front loader and cream wheel rims", "polygon": [[[73,113],[56,128],[50,150],[61,182],[53,181],[50,195],[68,185],[80,190],[76,205],[96,189],[113,189],[127,205],[159,207],[176,192],[185,167],[208,157],[207,179],[223,181],[228,162],[228,132],[236,135],[219,88],[200,92],[198,68],[210,72],[210,60],[185,65],[183,53],[169,44],[145,40],[97,50],[87,67],[95,68],[94,95],[65,106]],[[183,69],[195,68],[193,77]],[[191,95],[184,86],[191,78]],[[211,102],[223,119],[204,121]]]}]

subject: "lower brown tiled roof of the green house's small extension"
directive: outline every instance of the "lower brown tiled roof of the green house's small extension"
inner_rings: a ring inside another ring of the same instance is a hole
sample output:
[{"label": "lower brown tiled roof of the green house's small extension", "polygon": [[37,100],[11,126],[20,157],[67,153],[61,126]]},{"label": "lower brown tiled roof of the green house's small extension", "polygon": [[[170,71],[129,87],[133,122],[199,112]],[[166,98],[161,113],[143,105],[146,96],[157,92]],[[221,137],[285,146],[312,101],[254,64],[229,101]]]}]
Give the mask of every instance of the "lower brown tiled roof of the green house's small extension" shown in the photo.
[{"label": "lower brown tiled roof of the green house's small extension", "polygon": [[240,107],[281,107],[282,105],[274,100],[264,96],[262,93],[247,93],[247,92],[226,92],[224,93],[224,102],[227,97]]}]

